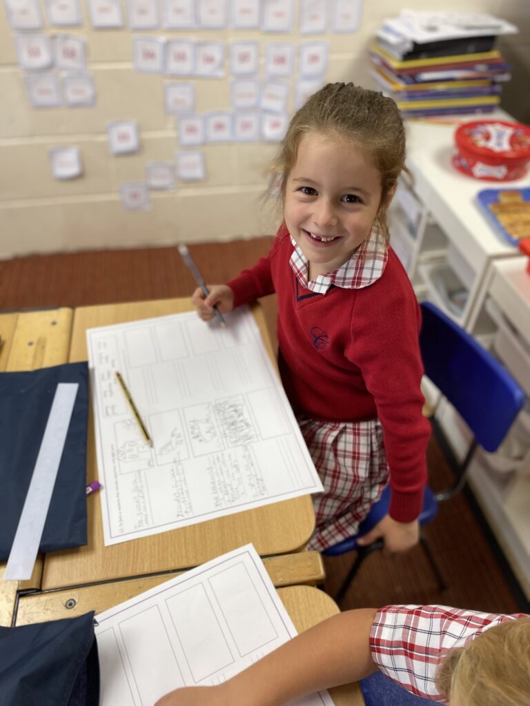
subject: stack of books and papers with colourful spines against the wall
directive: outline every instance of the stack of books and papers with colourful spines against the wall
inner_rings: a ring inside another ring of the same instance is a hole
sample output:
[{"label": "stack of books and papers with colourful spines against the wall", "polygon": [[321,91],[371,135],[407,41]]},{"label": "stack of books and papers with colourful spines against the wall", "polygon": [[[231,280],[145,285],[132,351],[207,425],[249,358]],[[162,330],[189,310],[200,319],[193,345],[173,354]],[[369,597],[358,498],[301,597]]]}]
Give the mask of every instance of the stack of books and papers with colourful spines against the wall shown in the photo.
[{"label": "stack of books and papers with colourful spines against the wall", "polygon": [[511,78],[495,40],[517,31],[487,14],[404,10],[377,30],[371,73],[404,117],[488,113]]}]

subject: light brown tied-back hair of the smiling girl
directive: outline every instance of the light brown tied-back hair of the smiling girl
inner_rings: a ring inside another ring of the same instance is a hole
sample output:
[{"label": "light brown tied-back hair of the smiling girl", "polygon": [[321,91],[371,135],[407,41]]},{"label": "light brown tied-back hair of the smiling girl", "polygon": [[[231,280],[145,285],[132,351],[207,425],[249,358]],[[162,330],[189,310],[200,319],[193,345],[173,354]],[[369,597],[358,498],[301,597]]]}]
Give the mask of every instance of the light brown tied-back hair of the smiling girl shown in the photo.
[{"label": "light brown tied-back hair of the smiling girl", "polygon": [[353,83],[328,83],[295,113],[271,171],[282,199],[300,140],[307,133],[351,140],[381,174],[377,220],[388,238],[385,219],[391,189],[405,167],[405,129],[396,103]]}]

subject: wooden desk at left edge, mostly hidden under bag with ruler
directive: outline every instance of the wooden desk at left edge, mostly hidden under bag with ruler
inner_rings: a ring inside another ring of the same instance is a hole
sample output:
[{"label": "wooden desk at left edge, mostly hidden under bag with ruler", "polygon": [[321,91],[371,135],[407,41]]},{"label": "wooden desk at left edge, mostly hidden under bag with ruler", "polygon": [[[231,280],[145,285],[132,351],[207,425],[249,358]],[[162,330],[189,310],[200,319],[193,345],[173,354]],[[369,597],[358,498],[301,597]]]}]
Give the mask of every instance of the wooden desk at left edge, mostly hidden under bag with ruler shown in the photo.
[{"label": "wooden desk at left edge, mostly hidden under bag with ruler", "polygon": [[[0,315],[0,372],[35,370],[66,363],[73,311],[47,309]],[[6,563],[0,563],[0,625],[11,625],[16,592],[40,587],[42,556],[37,556],[28,581],[4,581]]]}]

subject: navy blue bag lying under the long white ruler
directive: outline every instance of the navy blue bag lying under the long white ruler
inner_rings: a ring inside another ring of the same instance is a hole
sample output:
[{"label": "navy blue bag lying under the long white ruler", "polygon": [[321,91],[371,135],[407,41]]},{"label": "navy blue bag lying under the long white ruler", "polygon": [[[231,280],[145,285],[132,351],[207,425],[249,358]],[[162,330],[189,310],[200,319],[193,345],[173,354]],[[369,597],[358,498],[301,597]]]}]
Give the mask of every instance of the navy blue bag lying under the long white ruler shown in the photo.
[{"label": "navy blue bag lying under the long white ruler", "polygon": [[0,561],[15,537],[57,383],[79,383],[40,551],[86,544],[88,364],[0,373]]}]

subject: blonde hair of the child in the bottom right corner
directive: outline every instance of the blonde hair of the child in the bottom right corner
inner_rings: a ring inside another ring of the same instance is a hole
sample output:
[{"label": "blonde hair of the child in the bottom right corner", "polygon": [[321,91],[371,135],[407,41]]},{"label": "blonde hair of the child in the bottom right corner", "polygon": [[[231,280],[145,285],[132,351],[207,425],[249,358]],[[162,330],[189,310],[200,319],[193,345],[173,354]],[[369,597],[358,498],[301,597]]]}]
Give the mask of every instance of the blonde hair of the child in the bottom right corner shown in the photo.
[{"label": "blonde hair of the child in the bottom right corner", "polygon": [[452,706],[530,706],[530,617],[501,623],[449,650],[436,685]]}]

